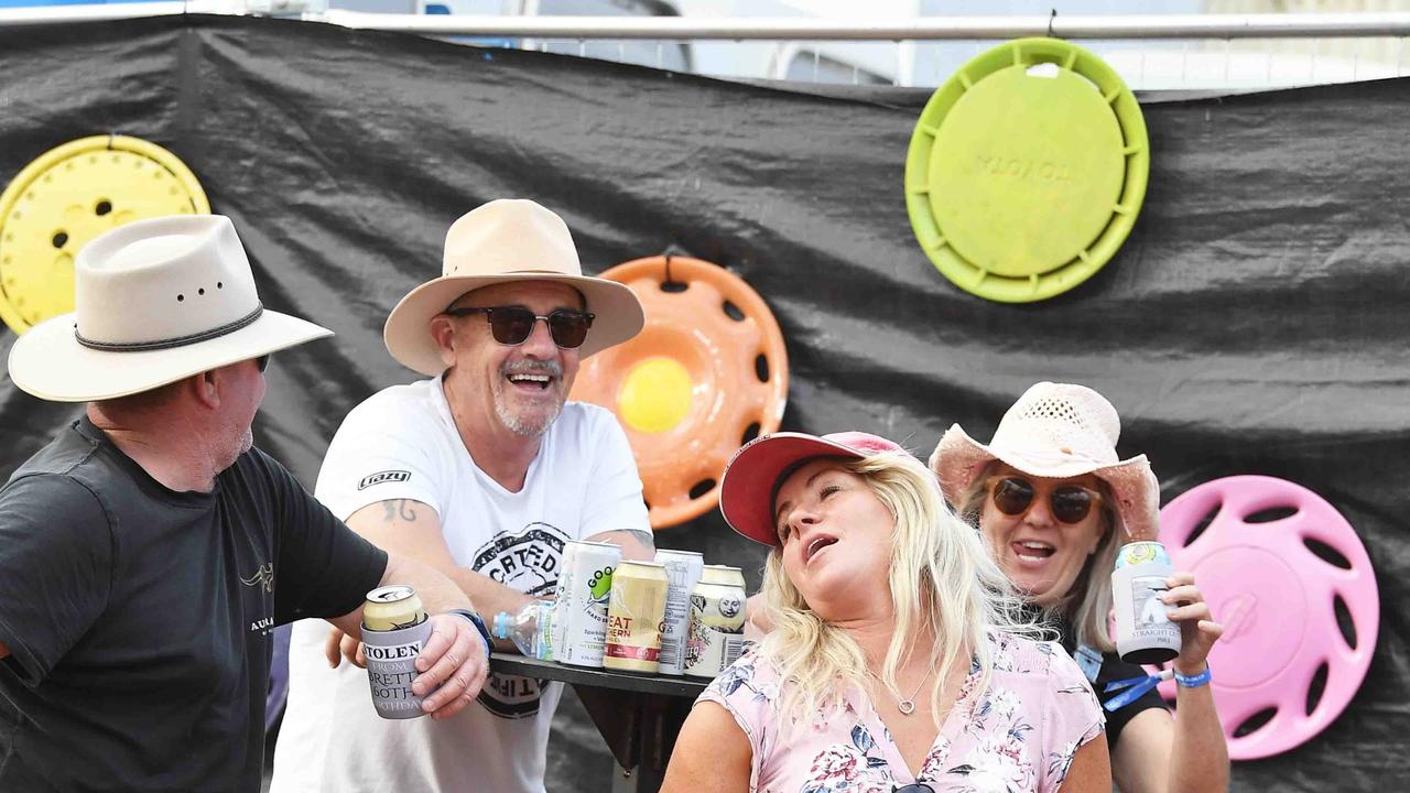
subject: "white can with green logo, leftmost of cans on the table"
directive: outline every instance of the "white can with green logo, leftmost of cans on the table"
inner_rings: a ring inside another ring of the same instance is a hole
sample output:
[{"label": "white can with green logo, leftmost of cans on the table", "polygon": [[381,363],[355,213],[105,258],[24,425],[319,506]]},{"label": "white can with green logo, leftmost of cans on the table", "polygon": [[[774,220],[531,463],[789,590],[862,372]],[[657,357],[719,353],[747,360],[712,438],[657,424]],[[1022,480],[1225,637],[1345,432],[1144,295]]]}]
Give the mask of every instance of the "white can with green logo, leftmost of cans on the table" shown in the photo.
[{"label": "white can with green logo, leftmost of cans on the table", "polygon": [[605,542],[570,540],[554,601],[553,658],[572,666],[602,666],[608,635],[608,600],[622,549]]}]

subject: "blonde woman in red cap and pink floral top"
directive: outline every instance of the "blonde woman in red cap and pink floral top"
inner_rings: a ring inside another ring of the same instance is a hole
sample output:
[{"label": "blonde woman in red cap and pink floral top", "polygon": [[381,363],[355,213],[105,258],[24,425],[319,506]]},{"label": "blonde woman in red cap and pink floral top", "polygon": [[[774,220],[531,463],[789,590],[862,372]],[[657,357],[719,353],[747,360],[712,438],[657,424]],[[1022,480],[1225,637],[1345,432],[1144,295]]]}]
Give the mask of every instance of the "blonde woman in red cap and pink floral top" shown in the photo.
[{"label": "blonde woman in red cap and pink floral top", "polygon": [[935,478],[860,432],[776,433],[721,484],[773,631],[687,718],[663,790],[1111,789],[1101,711]]}]

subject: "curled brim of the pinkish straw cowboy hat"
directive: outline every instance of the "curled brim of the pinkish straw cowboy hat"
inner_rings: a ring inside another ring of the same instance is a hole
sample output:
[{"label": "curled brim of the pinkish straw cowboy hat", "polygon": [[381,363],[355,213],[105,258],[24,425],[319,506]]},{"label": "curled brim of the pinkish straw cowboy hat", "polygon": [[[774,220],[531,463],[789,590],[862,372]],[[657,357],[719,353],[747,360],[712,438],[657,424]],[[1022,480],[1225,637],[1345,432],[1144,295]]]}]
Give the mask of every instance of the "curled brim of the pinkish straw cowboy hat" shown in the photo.
[{"label": "curled brim of the pinkish straw cowboy hat", "polygon": [[974,485],[984,467],[1001,461],[1038,478],[1069,478],[1093,474],[1111,488],[1131,539],[1155,539],[1159,533],[1160,483],[1151,470],[1145,454],[1118,463],[1091,460],[1035,460],[1017,453],[995,450],[970,437],[960,425],[953,425],[940,436],[931,454],[931,470],[940,481],[945,500],[955,509],[963,509],[960,500]]}]

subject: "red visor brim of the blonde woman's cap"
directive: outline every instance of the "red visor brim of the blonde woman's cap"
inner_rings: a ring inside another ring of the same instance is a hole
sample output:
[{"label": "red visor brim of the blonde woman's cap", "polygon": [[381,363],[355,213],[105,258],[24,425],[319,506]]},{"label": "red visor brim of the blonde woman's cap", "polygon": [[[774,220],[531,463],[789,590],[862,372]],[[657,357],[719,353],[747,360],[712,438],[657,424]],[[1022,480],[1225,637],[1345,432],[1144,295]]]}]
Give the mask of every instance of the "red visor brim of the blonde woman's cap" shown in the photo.
[{"label": "red visor brim of the blonde woman's cap", "polygon": [[856,449],[801,432],[776,432],[735,453],[719,485],[719,511],[737,533],[777,546],[774,485],[791,466],[812,457],[863,459]]}]

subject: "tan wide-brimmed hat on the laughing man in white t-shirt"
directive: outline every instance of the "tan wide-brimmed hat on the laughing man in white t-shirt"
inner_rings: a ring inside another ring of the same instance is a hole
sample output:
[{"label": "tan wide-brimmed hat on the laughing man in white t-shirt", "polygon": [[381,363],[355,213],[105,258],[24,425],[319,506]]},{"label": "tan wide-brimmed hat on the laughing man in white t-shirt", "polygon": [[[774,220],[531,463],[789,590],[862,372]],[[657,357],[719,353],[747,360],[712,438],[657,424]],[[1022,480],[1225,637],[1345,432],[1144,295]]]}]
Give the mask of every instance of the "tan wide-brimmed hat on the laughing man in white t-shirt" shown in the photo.
[{"label": "tan wide-brimmed hat on the laughing man in white t-shirt", "polygon": [[512,281],[554,281],[582,292],[596,315],[581,357],[642,332],[646,312],[625,285],[582,275],[568,224],[525,199],[501,199],[462,214],[446,233],[441,275],[412,289],[386,317],[382,337],[402,365],[422,374],[446,371],[431,337],[431,317],[471,289]]}]

